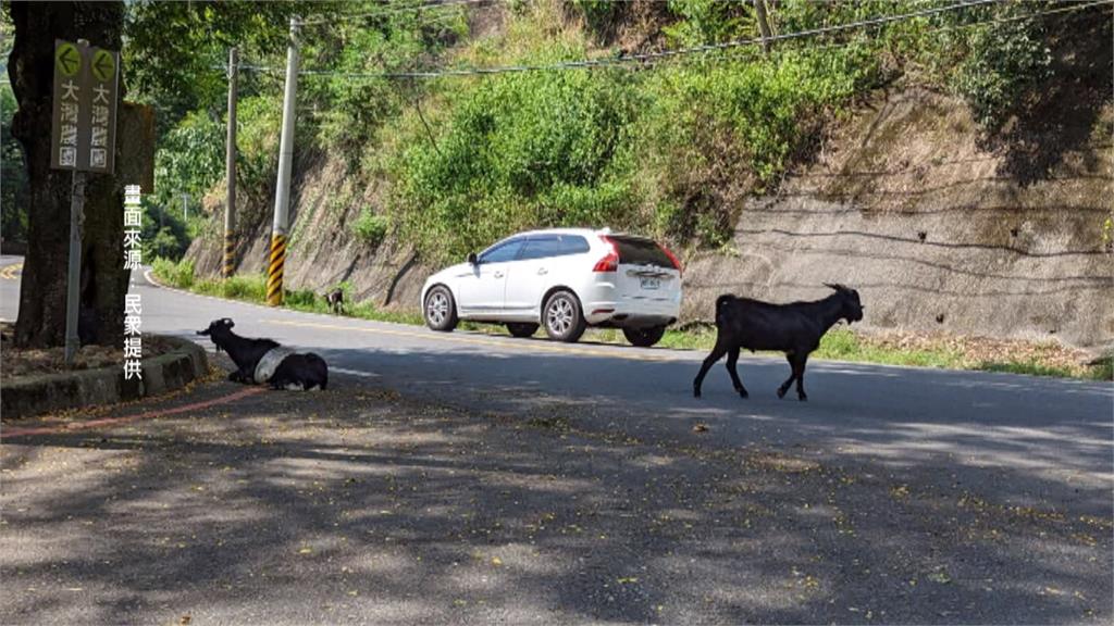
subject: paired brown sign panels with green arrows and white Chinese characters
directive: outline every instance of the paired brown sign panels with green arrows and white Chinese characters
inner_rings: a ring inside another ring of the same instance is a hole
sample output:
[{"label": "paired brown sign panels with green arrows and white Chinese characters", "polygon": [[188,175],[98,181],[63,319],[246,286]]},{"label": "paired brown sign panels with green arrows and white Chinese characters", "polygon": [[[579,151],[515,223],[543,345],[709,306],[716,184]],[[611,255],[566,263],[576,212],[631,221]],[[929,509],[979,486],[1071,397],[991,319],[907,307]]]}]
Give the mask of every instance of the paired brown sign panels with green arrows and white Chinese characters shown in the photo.
[{"label": "paired brown sign panels with green arrows and white Chinese characters", "polygon": [[111,174],[120,53],[55,40],[50,167]]}]

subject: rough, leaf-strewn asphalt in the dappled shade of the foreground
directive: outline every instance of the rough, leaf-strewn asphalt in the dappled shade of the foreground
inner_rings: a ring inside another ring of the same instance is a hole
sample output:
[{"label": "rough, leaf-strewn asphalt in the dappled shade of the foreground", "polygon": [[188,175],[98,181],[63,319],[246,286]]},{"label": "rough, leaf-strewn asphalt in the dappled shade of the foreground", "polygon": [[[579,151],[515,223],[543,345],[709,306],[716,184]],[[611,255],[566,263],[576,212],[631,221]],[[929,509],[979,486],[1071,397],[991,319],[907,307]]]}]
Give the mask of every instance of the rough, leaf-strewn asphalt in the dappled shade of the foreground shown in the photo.
[{"label": "rough, leaf-strewn asphalt in the dappled shade of the foreground", "polygon": [[[442,365],[448,358],[411,356]],[[329,358],[343,366],[342,351]],[[668,364],[623,365],[652,387],[664,384],[655,372]],[[744,368],[755,389],[776,370]],[[264,393],[105,432],[6,442],[0,617],[1110,619],[1108,491],[1107,515],[1066,513],[1009,503],[1039,500],[1027,492],[1030,480],[1014,480],[1022,470],[979,492],[941,485],[926,476],[938,467],[910,459],[896,463],[908,471],[891,475],[889,466],[840,462],[818,443],[733,441],[771,421],[824,436],[834,427],[811,423],[818,412],[842,410],[843,380],[869,375],[832,366],[815,376],[814,404],[759,400],[744,414],[710,387],[716,398],[678,398],[644,421],[550,402],[543,380],[534,398],[510,400],[518,412],[480,412],[447,407],[436,392],[418,402],[338,376],[319,394]],[[695,419],[710,431],[693,432]],[[879,415],[856,419],[878,430],[859,427],[868,444],[882,431],[898,441],[924,436],[901,415],[890,429]],[[680,426],[643,432],[651,420]],[[958,423],[942,418],[929,441],[961,447],[976,437],[945,434]],[[1036,427],[1098,428],[1051,417]],[[1018,453],[1026,437],[994,454]]]}]

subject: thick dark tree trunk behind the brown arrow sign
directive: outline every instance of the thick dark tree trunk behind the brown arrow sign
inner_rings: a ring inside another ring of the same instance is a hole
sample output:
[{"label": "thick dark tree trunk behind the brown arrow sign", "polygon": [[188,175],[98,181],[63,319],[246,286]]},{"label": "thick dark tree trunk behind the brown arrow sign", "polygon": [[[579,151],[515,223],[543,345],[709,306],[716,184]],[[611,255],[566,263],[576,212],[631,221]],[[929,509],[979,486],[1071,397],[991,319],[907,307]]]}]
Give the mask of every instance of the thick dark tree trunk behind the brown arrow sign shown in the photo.
[{"label": "thick dark tree trunk behind the brown arrow sign", "polygon": [[[119,50],[124,3],[11,2],[9,11],[16,37],[8,57],[8,76],[19,104],[11,133],[23,148],[30,196],[16,343],[37,348],[62,345],[72,174],[50,169],[55,39],[88,39],[91,46]],[[124,98],[123,91],[121,81],[119,100]],[[123,160],[119,134],[116,150],[119,169]],[[124,270],[123,187],[116,176],[87,177],[81,237],[81,334],[95,343],[120,344],[128,285],[128,272]]]}]

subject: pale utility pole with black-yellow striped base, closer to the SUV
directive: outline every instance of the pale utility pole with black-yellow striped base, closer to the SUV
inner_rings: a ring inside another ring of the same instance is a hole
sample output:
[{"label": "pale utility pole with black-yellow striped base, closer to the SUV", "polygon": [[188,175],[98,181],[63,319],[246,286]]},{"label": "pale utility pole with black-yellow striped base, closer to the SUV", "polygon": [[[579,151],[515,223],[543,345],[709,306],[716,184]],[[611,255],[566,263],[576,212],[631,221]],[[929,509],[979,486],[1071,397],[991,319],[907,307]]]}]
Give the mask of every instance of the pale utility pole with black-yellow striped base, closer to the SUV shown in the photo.
[{"label": "pale utility pole with black-yellow striped base, closer to the SUV", "polygon": [[267,304],[282,304],[282,271],[286,262],[286,231],[290,222],[290,172],[294,160],[294,98],[297,94],[297,16],[290,19],[286,50],[286,92],[282,104],[282,138],[278,144],[278,184],[275,186],[275,222],[271,232],[271,264],[267,266]]}]

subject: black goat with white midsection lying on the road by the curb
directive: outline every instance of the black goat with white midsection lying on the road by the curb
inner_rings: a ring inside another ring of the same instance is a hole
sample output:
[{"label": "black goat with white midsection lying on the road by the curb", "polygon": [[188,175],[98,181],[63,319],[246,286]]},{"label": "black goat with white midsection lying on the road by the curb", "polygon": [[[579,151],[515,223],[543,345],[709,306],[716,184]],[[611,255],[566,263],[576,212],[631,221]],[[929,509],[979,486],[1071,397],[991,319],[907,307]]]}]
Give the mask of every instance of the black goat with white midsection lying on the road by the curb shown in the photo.
[{"label": "black goat with white midsection lying on the road by the curb", "polygon": [[217,349],[224,350],[237,370],[228,380],[244,383],[267,383],[272,389],[309,391],[325,389],[329,366],[324,359],[309,352],[295,353],[270,339],[248,339],[232,332],[236,324],[228,317],[214,320],[209,327],[197,331],[207,335]]}]

